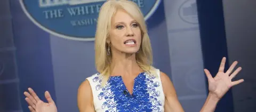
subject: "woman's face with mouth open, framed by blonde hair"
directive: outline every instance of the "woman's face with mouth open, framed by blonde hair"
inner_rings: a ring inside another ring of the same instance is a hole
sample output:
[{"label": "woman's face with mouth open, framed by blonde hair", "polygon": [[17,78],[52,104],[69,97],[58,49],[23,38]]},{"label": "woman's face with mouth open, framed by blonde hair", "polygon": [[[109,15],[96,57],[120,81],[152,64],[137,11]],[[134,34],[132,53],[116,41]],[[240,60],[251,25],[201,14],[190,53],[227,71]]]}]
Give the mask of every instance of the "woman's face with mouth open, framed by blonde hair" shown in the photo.
[{"label": "woman's face with mouth open, framed by blonde hair", "polygon": [[114,15],[109,37],[112,53],[132,54],[140,49],[141,30],[139,24],[124,10],[117,10]]}]

